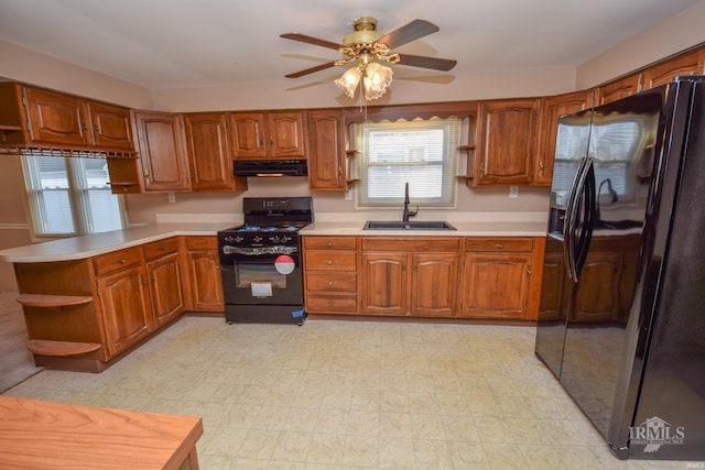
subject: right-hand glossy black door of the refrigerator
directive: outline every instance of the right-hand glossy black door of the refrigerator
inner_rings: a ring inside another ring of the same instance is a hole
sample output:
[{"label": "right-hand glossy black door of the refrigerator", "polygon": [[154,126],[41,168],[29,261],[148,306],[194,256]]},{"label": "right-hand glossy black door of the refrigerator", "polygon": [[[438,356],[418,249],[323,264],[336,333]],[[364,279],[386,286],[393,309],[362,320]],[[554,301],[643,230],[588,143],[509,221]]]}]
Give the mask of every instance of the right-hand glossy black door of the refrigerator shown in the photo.
[{"label": "right-hand glossy black door of the refrigerator", "polygon": [[[661,89],[605,105],[593,114],[588,154],[596,189],[586,196],[594,204],[592,241],[587,250],[577,250],[583,265],[567,316],[561,382],[606,437],[625,361],[663,109]],[[590,210],[588,203],[585,207]]]}]

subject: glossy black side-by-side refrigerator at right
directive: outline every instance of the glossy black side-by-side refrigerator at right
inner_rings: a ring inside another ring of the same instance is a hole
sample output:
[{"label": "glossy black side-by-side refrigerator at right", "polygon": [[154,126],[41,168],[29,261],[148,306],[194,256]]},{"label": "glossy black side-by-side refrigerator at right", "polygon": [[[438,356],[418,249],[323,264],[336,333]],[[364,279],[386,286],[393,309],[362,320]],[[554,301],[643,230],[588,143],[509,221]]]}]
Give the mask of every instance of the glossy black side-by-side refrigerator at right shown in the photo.
[{"label": "glossy black side-by-side refrigerator at right", "polygon": [[705,76],[557,130],[535,352],[617,457],[705,460]]}]

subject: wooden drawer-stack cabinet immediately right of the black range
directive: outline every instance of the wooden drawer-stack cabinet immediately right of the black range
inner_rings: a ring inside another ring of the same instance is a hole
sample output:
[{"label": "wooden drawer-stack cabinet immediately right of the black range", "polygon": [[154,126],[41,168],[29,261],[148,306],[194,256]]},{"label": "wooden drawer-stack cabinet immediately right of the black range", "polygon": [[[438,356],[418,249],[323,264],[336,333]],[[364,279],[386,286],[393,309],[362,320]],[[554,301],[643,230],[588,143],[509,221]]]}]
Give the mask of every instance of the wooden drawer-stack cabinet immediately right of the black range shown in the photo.
[{"label": "wooden drawer-stack cabinet immediately right of the black range", "polygon": [[357,314],[357,237],[304,237],[304,296],[311,314]]}]

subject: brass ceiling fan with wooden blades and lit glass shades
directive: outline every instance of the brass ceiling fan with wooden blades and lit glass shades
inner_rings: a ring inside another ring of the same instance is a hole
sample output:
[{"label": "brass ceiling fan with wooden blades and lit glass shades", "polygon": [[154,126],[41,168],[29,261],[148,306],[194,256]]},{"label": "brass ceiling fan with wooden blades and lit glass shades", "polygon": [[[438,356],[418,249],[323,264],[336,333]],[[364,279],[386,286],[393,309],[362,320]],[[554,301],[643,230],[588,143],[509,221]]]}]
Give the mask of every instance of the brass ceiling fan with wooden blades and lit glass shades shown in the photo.
[{"label": "brass ceiling fan with wooden blades and lit glass shades", "polygon": [[392,50],[403,44],[435,33],[438,30],[438,26],[429,21],[414,20],[391,33],[382,34],[377,31],[377,20],[375,18],[362,17],[355,20],[354,31],[343,39],[343,44],[301,33],[284,33],[281,34],[280,37],[333,48],[346,56],[341,59],[330,61],[325,64],[316,65],[315,67],[285,75],[285,77],[299,78],[329,67],[346,65],[354,62],[356,65],[337,79],[336,85],[338,85],[338,87],[340,87],[346,95],[351,98],[355,92],[355,88],[362,77],[361,85],[366,89],[366,99],[379,98],[391,84],[392,70],[391,68],[384,67],[375,61],[386,62],[389,64],[408,65],[412,67],[432,68],[443,72],[447,72],[455,66],[457,61],[448,58],[398,54],[392,52]]}]

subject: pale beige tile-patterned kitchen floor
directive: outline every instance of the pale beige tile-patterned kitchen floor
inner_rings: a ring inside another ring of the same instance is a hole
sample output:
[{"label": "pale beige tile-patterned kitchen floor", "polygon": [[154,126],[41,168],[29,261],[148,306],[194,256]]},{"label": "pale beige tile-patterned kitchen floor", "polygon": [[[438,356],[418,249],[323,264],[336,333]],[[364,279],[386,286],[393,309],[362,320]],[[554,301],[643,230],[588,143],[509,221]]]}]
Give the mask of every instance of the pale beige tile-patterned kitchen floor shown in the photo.
[{"label": "pale beige tile-patterned kitchen floor", "polygon": [[534,331],[185,317],[101,374],[43,371],[6,395],[202,416],[204,470],[686,468],[612,457]]}]

